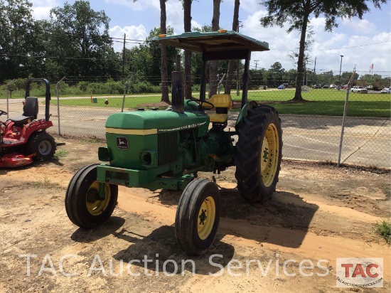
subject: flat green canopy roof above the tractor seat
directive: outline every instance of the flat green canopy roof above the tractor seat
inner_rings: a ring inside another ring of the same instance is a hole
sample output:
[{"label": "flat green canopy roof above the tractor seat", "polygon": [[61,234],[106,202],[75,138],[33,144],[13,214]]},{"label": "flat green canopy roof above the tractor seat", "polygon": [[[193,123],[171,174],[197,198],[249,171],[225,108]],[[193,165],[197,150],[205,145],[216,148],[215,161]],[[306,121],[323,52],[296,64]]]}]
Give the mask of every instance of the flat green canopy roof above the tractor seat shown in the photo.
[{"label": "flat green canopy roof above the tractor seat", "polygon": [[236,31],[226,30],[208,33],[193,31],[175,36],[160,35],[154,37],[152,41],[198,53],[230,50],[250,50],[250,52],[269,50],[269,43],[267,42],[255,40],[255,38],[250,38]]}]

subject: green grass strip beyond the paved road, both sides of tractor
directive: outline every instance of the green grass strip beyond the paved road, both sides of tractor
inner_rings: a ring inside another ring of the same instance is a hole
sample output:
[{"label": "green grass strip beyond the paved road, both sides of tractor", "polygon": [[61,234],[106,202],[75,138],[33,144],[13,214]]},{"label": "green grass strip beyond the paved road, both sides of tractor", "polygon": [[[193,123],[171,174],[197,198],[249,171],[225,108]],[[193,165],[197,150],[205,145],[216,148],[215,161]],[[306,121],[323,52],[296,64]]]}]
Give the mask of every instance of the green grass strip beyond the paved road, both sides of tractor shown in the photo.
[{"label": "green grass strip beyond the paved road, both sides of tractor", "polygon": [[[195,93],[198,98],[199,94]],[[342,116],[345,105],[346,90],[311,90],[303,92],[304,100],[309,102],[290,103],[287,102],[294,97],[294,90],[259,90],[248,92],[248,100],[255,100],[267,105],[272,105],[281,114],[315,114]],[[97,103],[92,103],[90,97],[83,97],[75,100],[60,100],[60,105],[84,106],[84,107],[122,107],[122,97],[110,97],[109,105],[105,105],[105,98],[97,97]],[[235,104],[240,103],[242,95],[237,96],[233,90],[231,94]],[[60,98],[61,99],[61,98]],[[137,97],[127,97],[124,109],[136,109],[145,107],[144,104],[154,104],[160,102],[159,95],[140,95]],[[387,94],[358,94],[349,93],[348,116],[356,117],[390,117],[391,95]],[[57,99],[53,97],[50,101],[52,105],[57,105]],[[238,110],[236,110],[238,111]]]}]

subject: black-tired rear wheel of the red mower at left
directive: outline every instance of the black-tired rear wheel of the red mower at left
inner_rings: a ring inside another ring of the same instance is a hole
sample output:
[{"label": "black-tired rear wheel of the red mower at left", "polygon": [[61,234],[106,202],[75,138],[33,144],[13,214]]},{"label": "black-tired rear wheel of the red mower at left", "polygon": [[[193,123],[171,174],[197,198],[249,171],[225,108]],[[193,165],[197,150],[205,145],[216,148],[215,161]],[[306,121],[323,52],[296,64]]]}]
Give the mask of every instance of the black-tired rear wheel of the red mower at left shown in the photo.
[{"label": "black-tired rear wheel of the red mower at left", "polygon": [[46,132],[36,132],[28,138],[26,153],[36,154],[35,161],[45,161],[53,158],[55,154],[54,138]]}]

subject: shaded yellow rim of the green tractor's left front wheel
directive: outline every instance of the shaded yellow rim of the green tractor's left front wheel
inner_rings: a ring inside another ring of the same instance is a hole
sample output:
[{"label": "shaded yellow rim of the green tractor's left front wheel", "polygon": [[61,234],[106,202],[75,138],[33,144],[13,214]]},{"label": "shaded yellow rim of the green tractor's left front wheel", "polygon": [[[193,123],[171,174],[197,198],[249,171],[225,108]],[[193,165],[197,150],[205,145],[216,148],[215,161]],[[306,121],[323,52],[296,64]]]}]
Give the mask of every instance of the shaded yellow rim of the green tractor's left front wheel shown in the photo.
[{"label": "shaded yellow rim of the green tractor's left front wheel", "polygon": [[104,186],[102,186],[105,188],[105,198],[100,198],[99,187],[100,183],[98,181],[94,181],[90,188],[88,188],[87,195],[85,197],[85,205],[91,215],[100,215],[106,210],[107,206],[109,206],[111,196],[109,184],[104,183]]}]

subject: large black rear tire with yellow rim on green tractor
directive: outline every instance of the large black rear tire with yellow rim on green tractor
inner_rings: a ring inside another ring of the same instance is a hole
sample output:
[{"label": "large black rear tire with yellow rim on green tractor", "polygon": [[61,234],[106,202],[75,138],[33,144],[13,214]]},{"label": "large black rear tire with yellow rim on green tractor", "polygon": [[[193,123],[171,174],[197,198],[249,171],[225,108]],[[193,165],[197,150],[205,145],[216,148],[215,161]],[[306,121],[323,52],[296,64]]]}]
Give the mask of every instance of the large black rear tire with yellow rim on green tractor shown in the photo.
[{"label": "large black rear tire with yellow rim on green tractor", "polygon": [[276,190],[282,158],[282,128],[277,110],[267,105],[248,110],[238,129],[237,189],[251,202],[264,202]]}]

